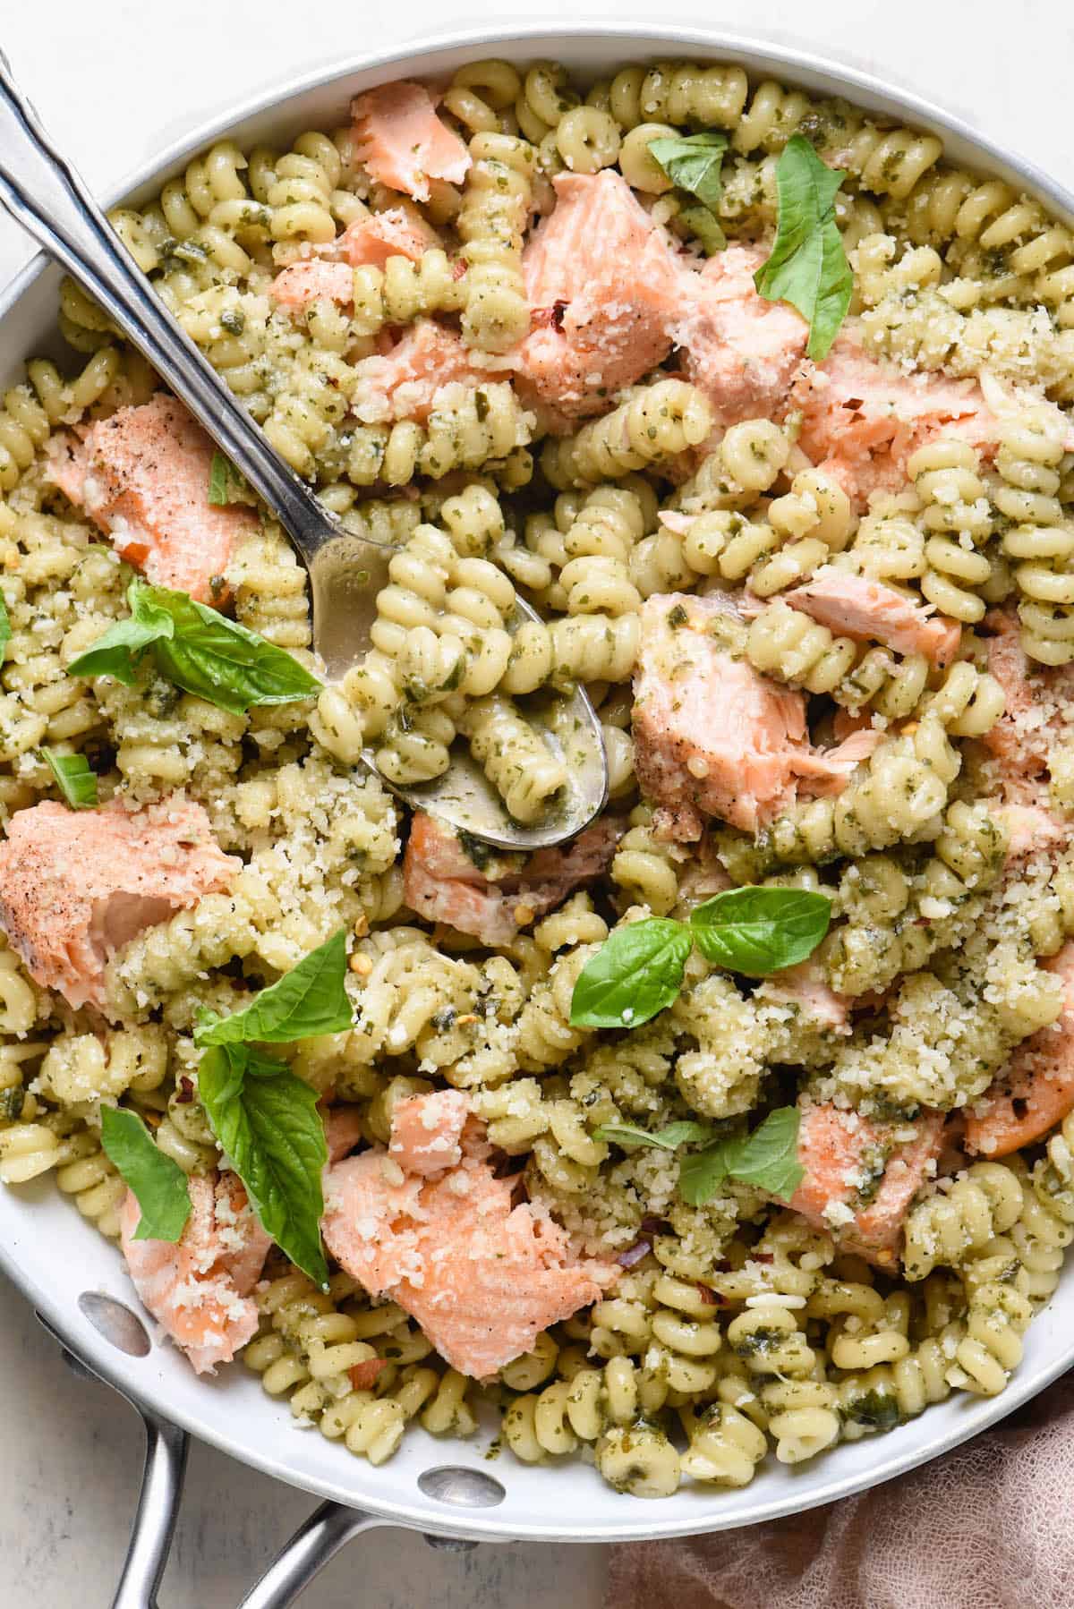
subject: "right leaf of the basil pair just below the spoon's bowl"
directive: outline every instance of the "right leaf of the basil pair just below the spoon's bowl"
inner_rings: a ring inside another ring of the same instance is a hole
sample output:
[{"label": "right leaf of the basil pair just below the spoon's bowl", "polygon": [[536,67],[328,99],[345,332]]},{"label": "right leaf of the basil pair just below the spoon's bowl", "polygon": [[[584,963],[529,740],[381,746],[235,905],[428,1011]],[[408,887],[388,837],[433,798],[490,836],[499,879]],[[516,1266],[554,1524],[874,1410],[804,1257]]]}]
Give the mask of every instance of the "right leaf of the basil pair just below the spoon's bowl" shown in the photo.
[{"label": "right leaf of the basil pair just below the spoon's bowl", "polygon": [[831,899],[807,888],[728,888],[691,911],[707,961],[762,978],[812,956],[828,932]]}]

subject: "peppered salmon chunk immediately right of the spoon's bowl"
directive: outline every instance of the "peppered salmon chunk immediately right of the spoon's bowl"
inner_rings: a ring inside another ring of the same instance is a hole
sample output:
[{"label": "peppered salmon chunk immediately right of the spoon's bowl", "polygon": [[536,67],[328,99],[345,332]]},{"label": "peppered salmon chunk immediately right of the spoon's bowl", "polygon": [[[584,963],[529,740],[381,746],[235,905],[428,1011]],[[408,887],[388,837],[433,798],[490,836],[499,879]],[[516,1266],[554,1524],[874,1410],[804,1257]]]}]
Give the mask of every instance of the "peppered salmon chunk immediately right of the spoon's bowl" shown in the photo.
[{"label": "peppered salmon chunk immediately right of the spoon's bowl", "polygon": [[[634,771],[660,837],[692,842],[702,817],[755,832],[807,792],[839,792],[857,759],[808,742],[802,693],[713,636],[723,595],[657,594],[641,610]],[[844,745],[845,747],[845,745]]]}]

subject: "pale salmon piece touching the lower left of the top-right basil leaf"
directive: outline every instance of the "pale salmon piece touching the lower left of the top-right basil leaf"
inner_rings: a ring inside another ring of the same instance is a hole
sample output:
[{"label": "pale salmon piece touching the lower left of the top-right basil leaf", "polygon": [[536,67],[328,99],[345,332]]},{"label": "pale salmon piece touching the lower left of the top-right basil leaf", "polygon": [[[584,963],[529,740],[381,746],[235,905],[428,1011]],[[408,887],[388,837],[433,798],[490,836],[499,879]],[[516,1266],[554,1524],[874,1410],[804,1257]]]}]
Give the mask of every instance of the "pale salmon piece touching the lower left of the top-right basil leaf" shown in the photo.
[{"label": "pale salmon piece touching the lower left of the top-right basil leaf", "polygon": [[728,246],[700,274],[681,269],[671,333],[684,377],[705,393],[721,430],[781,418],[805,354],[810,331],[800,314],[757,293],[765,256],[758,246]]}]

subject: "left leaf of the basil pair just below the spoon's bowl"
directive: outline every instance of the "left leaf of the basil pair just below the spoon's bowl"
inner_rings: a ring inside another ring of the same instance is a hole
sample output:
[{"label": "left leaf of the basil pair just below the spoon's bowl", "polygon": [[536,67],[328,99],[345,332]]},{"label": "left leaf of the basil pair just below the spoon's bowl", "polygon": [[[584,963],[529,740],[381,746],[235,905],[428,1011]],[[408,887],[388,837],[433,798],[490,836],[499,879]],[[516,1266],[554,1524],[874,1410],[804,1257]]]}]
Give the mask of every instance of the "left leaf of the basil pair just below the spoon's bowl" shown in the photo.
[{"label": "left leaf of the basil pair just below the spoon's bowl", "polygon": [[617,928],[586,962],[570,999],[575,1028],[638,1028],[670,1006],[692,949],[689,928],[647,917]]}]

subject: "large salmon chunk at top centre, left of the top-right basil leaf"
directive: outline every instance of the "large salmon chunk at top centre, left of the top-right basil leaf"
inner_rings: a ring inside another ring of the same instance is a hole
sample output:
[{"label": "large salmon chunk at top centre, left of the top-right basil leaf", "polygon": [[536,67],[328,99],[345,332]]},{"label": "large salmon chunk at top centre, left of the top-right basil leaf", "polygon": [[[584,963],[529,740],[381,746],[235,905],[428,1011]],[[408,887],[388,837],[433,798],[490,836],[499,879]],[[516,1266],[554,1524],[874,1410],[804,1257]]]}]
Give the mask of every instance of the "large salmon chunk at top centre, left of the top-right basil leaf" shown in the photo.
[{"label": "large salmon chunk at top centre, left of the top-right basil leaf", "polygon": [[522,253],[535,328],[512,356],[520,394],[565,431],[667,357],[681,277],[668,237],[613,169],[552,183],[556,206]]}]

